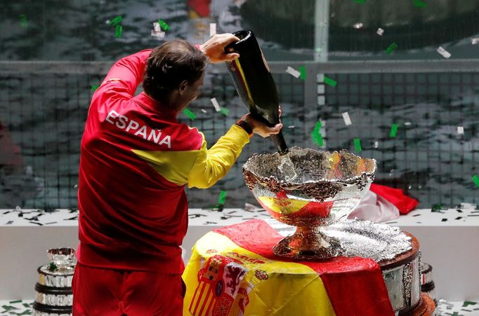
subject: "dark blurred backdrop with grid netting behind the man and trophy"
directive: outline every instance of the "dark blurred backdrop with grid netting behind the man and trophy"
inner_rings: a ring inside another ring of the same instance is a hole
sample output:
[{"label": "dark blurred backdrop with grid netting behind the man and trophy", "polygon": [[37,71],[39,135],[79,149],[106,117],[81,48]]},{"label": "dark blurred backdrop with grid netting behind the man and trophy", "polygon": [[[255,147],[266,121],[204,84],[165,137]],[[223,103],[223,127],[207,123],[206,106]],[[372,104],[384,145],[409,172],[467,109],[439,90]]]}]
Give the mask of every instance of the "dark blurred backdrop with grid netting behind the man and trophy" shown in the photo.
[{"label": "dark blurred backdrop with grid netting behind the man and trophy", "polygon": [[[251,29],[258,37],[289,146],[375,158],[375,182],[402,188],[421,208],[479,202],[479,0],[0,3],[0,209],[76,208],[79,144],[96,85],[125,55],[177,38],[203,43],[211,23],[217,33]],[[112,25],[118,16],[121,32]],[[160,19],[169,27],[152,36]],[[214,111],[212,97],[228,115]],[[209,65],[189,109],[195,120],[180,121],[204,132],[209,146],[247,111],[224,64]],[[322,146],[311,137],[318,121]],[[215,205],[220,191],[225,207],[255,202],[242,164],[273,151],[255,136],[224,179],[188,190],[190,207]]]}]

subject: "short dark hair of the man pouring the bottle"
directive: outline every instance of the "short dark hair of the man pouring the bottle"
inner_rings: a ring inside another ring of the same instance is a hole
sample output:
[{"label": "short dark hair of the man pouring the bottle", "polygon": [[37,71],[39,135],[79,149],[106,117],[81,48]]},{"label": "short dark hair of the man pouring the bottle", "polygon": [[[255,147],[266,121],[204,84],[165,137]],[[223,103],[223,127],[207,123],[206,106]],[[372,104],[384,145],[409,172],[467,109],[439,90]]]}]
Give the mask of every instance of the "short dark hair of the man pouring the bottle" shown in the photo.
[{"label": "short dark hair of the man pouring the bottle", "polygon": [[162,101],[184,80],[194,83],[206,68],[207,57],[183,40],[168,41],[155,48],[148,57],[143,77],[143,90]]}]

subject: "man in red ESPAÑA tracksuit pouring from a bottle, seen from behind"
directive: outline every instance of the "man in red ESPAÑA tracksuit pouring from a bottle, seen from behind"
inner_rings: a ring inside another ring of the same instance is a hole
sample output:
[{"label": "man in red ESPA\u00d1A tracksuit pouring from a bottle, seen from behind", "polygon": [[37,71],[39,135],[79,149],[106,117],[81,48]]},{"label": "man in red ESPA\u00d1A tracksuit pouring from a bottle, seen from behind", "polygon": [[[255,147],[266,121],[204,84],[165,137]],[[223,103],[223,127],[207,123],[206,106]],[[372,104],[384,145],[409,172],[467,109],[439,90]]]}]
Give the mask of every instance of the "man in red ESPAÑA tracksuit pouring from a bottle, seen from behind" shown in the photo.
[{"label": "man in red ESPA\u00d1A tracksuit pouring from a bottle, seen from behind", "polygon": [[220,34],[197,48],[170,41],[142,50],[115,63],[93,94],[81,139],[73,315],[181,315],[185,185],[214,185],[254,132],[282,128],[247,114],[207,149],[201,132],[178,123],[206,61],[238,57],[224,53],[232,41]]}]

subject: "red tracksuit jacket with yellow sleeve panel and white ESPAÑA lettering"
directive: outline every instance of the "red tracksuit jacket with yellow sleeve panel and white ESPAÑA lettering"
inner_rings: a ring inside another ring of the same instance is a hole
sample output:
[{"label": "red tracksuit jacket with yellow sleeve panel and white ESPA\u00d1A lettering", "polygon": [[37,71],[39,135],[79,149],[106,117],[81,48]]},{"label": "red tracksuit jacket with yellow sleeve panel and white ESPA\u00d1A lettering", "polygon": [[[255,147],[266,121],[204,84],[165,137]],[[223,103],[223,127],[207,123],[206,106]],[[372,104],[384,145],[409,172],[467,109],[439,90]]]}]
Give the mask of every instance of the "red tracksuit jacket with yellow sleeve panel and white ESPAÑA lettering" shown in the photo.
[{"label": "red tracksuit jacket with yellow sleeve panel and white ESPA\u00d1A lettering", "polygon": [[93,94],[79,167],[77,259],[86,266],[181,273],[184,187],[224,177],[249,142],[237,125],[206,149],[204,135],[143,92],[151,50],[119,60]]}]

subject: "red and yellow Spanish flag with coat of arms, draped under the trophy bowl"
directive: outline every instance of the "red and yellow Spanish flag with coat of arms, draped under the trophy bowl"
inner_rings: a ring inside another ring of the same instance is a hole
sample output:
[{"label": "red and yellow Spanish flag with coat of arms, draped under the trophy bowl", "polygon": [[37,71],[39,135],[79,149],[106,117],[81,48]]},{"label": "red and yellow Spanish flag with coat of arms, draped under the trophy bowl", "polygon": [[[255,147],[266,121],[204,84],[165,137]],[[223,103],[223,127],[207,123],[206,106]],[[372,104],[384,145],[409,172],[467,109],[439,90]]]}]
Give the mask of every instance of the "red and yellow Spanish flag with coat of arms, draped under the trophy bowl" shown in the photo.
[{"label": "red and yellow Spanish flag with coat of arms, draped under the trophy bowl", "polygon": [[183,315],[394,315],[371,259],[287,261],[282,236],[253,219],[200,238],[183,273]]}]

